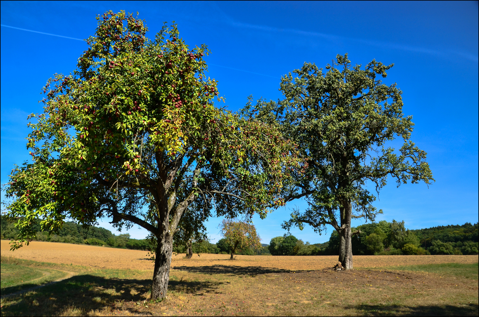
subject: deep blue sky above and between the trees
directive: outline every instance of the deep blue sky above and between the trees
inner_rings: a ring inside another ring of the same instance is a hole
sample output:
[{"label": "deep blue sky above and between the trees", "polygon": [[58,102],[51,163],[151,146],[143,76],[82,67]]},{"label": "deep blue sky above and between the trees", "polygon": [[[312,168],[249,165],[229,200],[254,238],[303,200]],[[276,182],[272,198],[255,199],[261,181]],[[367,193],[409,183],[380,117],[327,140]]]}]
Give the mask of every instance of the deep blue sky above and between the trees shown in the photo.
[{"label": "deep blue sky above and between the trees", "polygon": [[[416,124],[412,141],[428,153],[436,182],[403,185],[390,180],[376,200],[377,220],[405,220],[410,229],[478,221],[478,2],[141,2],[1,1],[1,184],[13,164],[27,160],[26,116],[42,111],[40,89],[55,73],[68,74],[93,34],[95,14],[139,12],[153,37],[176,21],[189,45],[207,44],[209,76],[237,110],[252,94],[281,98],[279,78],[304,62],[325,66],[348,53],[354,64],[375,58],[394,63],[385,82],[403,91],[406,115]],[[3,25],[62,35],[58,37]],[[69,37],[69,38],[66,38]],[[3,197],[3,196],[2,196]],[[263,243],[283,235],[289,208],[254,219]],[[111,220],[110,220],[111,221]],[[209,219],[213,242],[220,219]],[[355,221],[358,225],[361,221]],[[100,225],[111,229],[108,219]],[[114,230],[112,230],[115,232]],[[133,238],[146,230],[131,229]],[[309,228],[292,233],[311,243]]]}]

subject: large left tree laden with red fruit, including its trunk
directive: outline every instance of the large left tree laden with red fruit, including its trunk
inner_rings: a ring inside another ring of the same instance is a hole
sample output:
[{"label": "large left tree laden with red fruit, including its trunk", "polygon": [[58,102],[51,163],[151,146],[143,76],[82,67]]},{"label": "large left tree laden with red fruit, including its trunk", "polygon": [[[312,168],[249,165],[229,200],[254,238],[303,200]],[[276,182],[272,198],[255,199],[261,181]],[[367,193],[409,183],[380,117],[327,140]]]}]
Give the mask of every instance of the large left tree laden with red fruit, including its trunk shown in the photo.
[{"label": "large left tree laden with red fruit, including its trunk", "polygon": [[78,68],[50,78],[43,112],[29,116],[32,159],[4,188],[18,219],[12,249],[35,238],[35,220],[52,233],[66,219],[139,225],[157,241],[151,298],[160,299],[185,212],[199,222],[212,210],[264,218],[284,204],[281,188],[300,160],[277,125],[215,106],[209,51],[185,44],[176,25],[150,40],[132,14],[97,20]]}]

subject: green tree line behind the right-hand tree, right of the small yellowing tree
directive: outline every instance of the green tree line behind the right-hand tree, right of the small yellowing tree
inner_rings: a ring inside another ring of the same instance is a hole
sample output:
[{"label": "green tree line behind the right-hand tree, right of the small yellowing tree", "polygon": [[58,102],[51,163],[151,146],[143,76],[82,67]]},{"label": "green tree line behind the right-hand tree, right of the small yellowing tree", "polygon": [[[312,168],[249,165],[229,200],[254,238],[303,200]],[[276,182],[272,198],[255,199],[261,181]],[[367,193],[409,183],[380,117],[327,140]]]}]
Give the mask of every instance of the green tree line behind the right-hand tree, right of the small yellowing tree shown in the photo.
[{"label": "green tree line behind the right-hand tree, right of the small yellowing tree", "polygon": [[[422,255],[422,254],[478,254],[478,224],[439,226],[408,230],[404,221],[379,221],[364,224],[352,239],[353,255]],[[271,239],[272,255],[336,255],[340,247],[337,231],[322,244],[309,244],[295,236]]]}]

